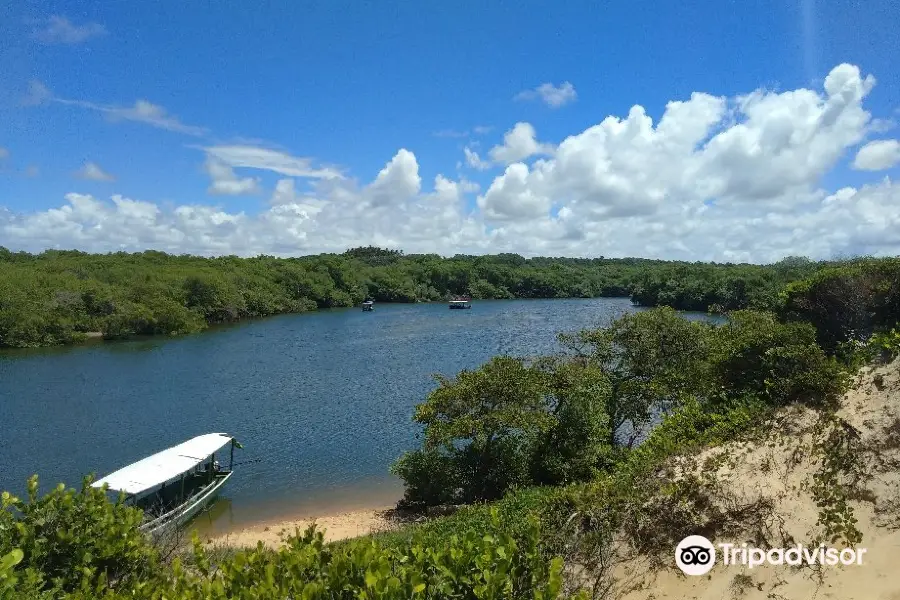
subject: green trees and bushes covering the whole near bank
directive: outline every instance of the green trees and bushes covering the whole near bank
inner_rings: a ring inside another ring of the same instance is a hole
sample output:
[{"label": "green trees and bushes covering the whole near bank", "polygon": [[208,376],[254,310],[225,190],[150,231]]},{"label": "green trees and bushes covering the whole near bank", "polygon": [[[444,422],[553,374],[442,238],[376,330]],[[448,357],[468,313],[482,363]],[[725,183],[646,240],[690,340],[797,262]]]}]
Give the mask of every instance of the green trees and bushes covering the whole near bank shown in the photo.
[{"label": "green trees and bushes covering the whole near bank", "polygon": [[764,532],[764,503],[730,504],[715,461],[675,466],[783,441],[793,417],[772,417],[786,407],[816,415],[803,450],[821,466],[797,493],[816,501],[817,535],[857,545],[859,433],[837,409],[860,365],[900,355],[900,260],[820,269],[776,300],[718,325],[626,315],[564,336],[557,355],[439,377],[416,407],[422,445],[394,470],[406,505],[466,506],[399,531],[325,544],[310,530],[225,555],[195,538],[173,552],[89,480],[39,497],[33,478],[27,498],[0,497],[0,599],[612,598],[617,552],[668,564],[688,534]]}]

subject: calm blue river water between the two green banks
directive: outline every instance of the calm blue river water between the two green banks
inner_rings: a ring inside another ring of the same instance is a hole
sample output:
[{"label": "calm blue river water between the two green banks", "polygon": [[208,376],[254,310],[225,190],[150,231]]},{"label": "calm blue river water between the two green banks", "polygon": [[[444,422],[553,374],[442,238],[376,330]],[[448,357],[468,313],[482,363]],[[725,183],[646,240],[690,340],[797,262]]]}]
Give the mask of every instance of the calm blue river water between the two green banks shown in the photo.
[{"label": "calm blue river water between the two green banks", "polygon": [[[627,298],[380,304],[283,315],[177,339],[0,354],[0,489],[104,475],[192,436],[244,445],[216,530],[401,494],[388,466],[417,445],[413,407],[497,354],[635,310]],[[227,463],[226,461],[223,461]]]}]

